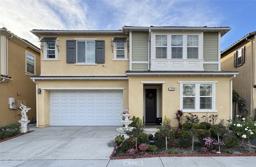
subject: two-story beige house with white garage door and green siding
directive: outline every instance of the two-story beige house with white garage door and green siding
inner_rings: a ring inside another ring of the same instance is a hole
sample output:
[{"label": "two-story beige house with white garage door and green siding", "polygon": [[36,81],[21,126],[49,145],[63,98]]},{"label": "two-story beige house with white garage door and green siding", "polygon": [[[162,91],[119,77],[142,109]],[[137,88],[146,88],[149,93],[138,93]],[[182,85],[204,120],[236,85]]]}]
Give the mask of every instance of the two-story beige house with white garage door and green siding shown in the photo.
[{"label": "two-story beige house with white garage door and green siding", "polygon": [[[121,126],[121,112],[145,123],[175,112],[232,116],[232,79],[221,71],[229,27],[131,27],[117,31],[33,29],[41,41],[38,127]],[[202,119],[202,118],[201,118]]]}]

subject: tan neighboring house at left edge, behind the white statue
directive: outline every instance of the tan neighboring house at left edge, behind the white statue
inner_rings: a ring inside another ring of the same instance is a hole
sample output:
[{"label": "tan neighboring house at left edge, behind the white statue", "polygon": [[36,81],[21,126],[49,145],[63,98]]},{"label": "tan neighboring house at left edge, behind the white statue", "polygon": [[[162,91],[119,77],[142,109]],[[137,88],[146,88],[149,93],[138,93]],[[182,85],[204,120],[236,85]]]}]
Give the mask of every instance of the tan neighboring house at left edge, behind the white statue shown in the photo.
[{"label": "tan neighboring house at left edge, behind the white statue", "polygon": [[40,49],[5,27],[0,29],[0,45],[0,125],[21,119],[20,103],[31,108],[28,119],[36,120],[36,84],[30,76],[40,75]]}]

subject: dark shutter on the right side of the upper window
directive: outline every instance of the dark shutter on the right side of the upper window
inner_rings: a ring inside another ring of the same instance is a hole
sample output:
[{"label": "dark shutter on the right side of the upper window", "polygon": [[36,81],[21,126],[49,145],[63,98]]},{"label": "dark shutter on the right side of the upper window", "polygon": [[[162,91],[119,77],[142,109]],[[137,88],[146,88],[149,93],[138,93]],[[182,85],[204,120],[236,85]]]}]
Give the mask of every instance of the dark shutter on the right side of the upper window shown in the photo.
[{"label": "dark shutter on the right side of the upper window", "polygon": [[105,63],[105,41],[96,41],[95,63]]}]

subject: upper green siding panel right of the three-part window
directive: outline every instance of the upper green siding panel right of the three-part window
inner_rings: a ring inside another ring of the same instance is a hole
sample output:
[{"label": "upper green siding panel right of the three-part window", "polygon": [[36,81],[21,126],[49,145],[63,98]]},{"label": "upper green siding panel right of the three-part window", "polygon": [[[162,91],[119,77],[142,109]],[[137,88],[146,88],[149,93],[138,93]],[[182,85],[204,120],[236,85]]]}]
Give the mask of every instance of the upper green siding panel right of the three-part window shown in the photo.
[{"label": "upper green siding panel right of the three-part window", "polygon": [[218,32],[204,32],[204,61],[218,61]]}]

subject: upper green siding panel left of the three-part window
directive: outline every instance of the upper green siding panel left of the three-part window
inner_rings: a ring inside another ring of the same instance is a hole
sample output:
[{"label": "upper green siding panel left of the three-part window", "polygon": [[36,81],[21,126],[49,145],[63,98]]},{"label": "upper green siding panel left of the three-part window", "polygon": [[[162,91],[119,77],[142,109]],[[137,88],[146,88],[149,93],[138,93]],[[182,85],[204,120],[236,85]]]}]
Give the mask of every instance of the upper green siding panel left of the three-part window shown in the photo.
[{"label": "upper green siding panel left of the three-part window", "polygon": [[148,61],[148,32],[132,31],[132,61]]}]

